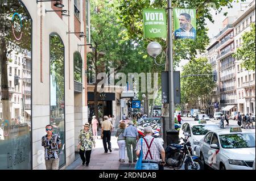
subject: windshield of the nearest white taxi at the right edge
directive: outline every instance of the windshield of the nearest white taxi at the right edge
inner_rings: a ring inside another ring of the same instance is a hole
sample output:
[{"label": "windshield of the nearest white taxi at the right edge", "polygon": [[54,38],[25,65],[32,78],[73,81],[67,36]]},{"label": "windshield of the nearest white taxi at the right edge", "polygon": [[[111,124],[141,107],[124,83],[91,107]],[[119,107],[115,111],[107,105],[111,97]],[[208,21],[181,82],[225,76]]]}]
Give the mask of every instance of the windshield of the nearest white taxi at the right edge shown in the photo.
[{"label": "windshield of the nearest white taxi at the right edge", "polygon": [[220,135],[222,148],[255,148],[255,133]]}]

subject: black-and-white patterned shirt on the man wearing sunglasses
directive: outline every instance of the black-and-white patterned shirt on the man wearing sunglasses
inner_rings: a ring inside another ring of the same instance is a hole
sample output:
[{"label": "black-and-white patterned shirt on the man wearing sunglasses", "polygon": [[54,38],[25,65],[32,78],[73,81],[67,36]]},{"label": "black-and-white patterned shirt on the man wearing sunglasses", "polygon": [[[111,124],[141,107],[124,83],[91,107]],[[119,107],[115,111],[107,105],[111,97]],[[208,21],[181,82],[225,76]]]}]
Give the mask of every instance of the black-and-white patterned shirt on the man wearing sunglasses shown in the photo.
[{"label": "black-and-white patterned shirt on the man wearing sunglasses", "polygon": [[42,146],[44,147],[46,160],[59,158],[59,144],[61,144],[61,141],[58,134],[52,134],[50,140],[48,140],[47,134],[42,137]]}]

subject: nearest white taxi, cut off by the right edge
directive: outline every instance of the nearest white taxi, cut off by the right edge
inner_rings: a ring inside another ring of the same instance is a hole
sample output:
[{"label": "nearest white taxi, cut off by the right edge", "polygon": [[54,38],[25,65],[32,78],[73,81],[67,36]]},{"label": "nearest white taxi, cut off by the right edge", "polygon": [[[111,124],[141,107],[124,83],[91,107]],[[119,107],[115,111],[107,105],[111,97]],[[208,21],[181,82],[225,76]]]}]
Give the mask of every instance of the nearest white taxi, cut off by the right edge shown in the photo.
[{"label": "nearest white taxi, cut off by the right edge", "polygon": [[251,170],[255,159],[255,129],[210,131],[200,141],[204,166],[217,170]]}]

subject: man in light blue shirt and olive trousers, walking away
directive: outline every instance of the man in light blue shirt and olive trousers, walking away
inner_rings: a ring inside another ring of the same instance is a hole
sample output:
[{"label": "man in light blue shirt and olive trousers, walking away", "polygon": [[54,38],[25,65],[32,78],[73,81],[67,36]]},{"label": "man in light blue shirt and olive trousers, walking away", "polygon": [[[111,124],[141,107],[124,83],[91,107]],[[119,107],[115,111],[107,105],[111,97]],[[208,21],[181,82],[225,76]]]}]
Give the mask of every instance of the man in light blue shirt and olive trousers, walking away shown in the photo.
[{"label": "man in light blue shirt and olive trousers, walking away", "polygon": [[[133,126],[133,121],[129,121],[128,127],[123,132],[123,136],[125,136],[125,145],[127,150],[127,156],[129,158],[129,163],[137,162],[136,155],[136,144],[139,138],[139,134],[137,128]],[[133,146],[133,151],[131,151],[131,146]]]}]

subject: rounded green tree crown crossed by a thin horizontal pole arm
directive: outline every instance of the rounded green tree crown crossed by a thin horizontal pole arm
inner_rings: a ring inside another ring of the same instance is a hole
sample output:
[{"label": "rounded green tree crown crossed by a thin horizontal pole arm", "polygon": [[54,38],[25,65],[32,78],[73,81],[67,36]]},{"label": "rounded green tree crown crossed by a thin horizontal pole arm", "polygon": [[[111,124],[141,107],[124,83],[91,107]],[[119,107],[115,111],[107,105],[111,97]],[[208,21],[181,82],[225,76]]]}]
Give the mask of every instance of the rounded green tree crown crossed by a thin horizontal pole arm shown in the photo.
[{"label": "rounded green tree crown crossed by a thin horizontal pole arm", "polygon": [[[213,74],[212,65],[207,63],[207,58],[197,58],[183,66],[181,77],[195,74]],[[181,78],[181,102],[199,106],[200,99],[201,103],[207,103],[215,86],[213,75]]]}]

